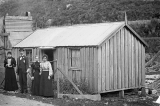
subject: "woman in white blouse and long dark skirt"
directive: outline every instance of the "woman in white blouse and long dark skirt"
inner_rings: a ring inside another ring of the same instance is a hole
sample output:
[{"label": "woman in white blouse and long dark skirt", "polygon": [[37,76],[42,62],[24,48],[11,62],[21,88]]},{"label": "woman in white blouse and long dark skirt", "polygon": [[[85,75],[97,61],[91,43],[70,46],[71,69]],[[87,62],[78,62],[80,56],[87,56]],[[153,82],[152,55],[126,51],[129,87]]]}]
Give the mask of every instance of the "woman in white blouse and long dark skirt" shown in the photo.
[{"label": "woman in white blouse and long dark skirt", "polygon": [[53,88],[52,88],[52,66],[48,60],[47,55],[43,55],[42,63],[40,63],[40,95],[44,97],[53,96]]}]

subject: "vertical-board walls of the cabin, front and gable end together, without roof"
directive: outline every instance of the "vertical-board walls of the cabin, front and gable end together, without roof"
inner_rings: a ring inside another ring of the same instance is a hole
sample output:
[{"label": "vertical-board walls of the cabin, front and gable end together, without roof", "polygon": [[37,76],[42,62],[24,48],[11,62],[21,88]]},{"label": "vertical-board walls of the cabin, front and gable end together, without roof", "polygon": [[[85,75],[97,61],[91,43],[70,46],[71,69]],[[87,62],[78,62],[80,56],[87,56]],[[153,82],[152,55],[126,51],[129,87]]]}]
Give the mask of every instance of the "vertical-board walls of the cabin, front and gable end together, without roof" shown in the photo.
[{"label": "vertical-board walls of the cabin, front and gable end together, without roof", "polygon": [[[19,50],[13,51],[17,58]],[[32,54],[33,61],[35,55],[42,60],[41,49],[32,48]],[[93,93],[140,88],[145,83],[145,47],[125,27],[99,47],[57,47],[53,57],[59,69],[72,80],[85,81]],[[55,70],[56,63],[53,66]]]}]

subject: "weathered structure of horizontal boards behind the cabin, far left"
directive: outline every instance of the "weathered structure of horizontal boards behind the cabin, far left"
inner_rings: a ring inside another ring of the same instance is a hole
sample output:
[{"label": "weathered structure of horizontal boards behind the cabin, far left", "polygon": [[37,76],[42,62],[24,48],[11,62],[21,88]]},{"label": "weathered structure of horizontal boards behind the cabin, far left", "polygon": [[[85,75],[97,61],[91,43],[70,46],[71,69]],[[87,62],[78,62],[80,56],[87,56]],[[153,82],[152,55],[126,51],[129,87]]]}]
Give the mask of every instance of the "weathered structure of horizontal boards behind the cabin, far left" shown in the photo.
[{"label": "weathered structure of horizontal boards behind the cabin, far left", "polygon": [[5,75],[3,62],[6,53],[33,32],[32,23],[32,16],[0,17],[0,83]]}]

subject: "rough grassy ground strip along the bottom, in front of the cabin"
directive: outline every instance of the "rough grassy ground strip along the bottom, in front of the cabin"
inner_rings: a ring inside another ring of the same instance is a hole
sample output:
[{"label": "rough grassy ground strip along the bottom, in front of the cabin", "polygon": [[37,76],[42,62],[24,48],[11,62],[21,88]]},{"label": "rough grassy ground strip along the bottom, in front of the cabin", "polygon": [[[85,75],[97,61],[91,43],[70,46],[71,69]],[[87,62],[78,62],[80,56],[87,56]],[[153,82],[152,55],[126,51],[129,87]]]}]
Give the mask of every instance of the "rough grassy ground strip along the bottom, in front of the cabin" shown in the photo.
[{"label": "rough grassy ground strip along the bottom, in front of the cabin", "polygon": [[124,99],[120,99],[112,95],[102,97],[101,101],[91,101],[91,100],[80,100],[80,99],[58,99],[54,98],[45,98],[41,96],[33,96],[31,94],[11,94],[6,92],[1,92],[3,95],[7,96],[16,96],[20,98],[26,98],[30,100],[36,100],[43,103],[53,104],[55,106],[159,106],[158,104],[153,103],[157,97],[153,95],[148,95],[147,97],[139,97],[137,95],[125,96]]}]

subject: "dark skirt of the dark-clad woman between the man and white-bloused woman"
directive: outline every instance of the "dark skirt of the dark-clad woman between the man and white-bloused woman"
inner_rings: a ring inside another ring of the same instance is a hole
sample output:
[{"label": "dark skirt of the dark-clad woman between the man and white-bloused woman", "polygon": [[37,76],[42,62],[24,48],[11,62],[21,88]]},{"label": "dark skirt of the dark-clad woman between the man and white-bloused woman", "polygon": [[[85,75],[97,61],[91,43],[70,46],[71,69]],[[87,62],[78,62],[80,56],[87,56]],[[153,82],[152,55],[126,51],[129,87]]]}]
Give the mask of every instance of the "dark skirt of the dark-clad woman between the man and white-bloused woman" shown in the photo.
[{"label": "dark skirt of the dark-clad woman between the man and white-bloused woman", "polygon": [[40,75],[39,71],[35,71],[34,80],[32,81],[32,88],[31,88],[32,95],[39,96],[39,87],[40,87]]}]

